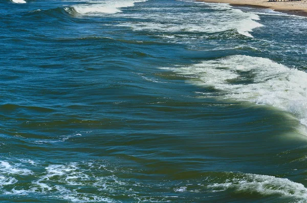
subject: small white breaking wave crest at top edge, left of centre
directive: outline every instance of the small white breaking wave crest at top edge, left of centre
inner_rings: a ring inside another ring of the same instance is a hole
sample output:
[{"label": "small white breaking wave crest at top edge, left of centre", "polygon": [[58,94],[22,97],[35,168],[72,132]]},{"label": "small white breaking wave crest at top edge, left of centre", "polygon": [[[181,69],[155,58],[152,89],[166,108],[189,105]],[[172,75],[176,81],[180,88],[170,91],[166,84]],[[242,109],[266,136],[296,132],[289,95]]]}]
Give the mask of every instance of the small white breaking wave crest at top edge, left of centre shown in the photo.
[{"label": "small white breaking wave crest at top edge, left of centre", "polygon": [[145,2],[147,0],[113,0],[113,1],[95,1],[87,2],[84,5],[75,5],[73,9],[81,14],[104,14],[104,13],[119,13],[120,9],[125,7],[133,7],[135,3]]}]

